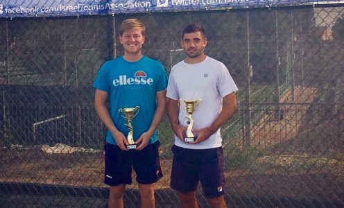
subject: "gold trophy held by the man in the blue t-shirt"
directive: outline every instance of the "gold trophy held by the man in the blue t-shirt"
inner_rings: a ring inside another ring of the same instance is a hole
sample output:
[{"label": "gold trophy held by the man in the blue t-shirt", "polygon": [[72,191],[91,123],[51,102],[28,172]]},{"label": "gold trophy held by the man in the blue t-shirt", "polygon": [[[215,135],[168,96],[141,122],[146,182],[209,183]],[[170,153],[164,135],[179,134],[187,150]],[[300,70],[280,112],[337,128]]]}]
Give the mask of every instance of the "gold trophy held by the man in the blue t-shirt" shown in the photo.
[{"label": "gold trophy held by the man in the blue t-shirt", "polygon": [[128,148],[128,150],[136,149],[134,137],[132,137],[133,129],[132,129],[131,121],[132,121],[132,119],[134,119],[134,117],[137,115],[137,113],[139,113],[139,106],[121,108],[121,109],[119,109],[119,112],[121,112],[121,116],[124,119],[126,119],[126,121],[127,121],[127,123],[124,124],[124,125],[128,126],[128,136],[127,136],[128,145],[127,145],[127,148]]}]

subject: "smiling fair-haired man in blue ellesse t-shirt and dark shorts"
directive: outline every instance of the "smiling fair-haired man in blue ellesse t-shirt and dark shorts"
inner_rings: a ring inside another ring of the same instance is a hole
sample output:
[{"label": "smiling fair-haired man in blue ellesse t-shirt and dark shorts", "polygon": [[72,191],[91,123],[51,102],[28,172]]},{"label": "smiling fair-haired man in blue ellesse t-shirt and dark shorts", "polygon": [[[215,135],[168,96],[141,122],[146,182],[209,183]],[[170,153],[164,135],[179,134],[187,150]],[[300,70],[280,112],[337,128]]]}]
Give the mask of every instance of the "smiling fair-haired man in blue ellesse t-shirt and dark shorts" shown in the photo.
[{"label": "smiling fair-haired man in blue ellesse t-shirt and dark shorts", "polygon": [[[162,177],[157,126],[166,107],[167,76],[160,62],[142,55],[144,31],[138,19],[123,21],[119,42],[124,55],[105,62],[93,85],[94,106],[107,127],[104,182],[110,185],[109,207],[123,207],[124,189],[132,183],[132,168],[137,175],[141,207],[155,207],[153,184]],[[132,130],[122,117],[124,108],[137,110]],[[137,146],[133,150],[127,148],[129,132]]]}]

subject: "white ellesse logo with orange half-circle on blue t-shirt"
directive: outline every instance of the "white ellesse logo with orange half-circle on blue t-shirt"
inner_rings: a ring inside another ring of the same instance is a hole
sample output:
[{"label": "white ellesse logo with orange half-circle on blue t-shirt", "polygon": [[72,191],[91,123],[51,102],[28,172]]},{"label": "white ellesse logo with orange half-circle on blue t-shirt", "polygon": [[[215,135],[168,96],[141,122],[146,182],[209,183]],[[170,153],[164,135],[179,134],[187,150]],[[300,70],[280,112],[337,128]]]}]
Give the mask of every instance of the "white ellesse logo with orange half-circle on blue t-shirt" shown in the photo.
[{"label": "white ellesse logo with orange half-circle on blue t-shirt", "polygon": [[134,78],[120,75],[118,79],[112,81],[114,86],[119,85],[153,85],[153,78],[147,78],[144,71],[136,71]]}]

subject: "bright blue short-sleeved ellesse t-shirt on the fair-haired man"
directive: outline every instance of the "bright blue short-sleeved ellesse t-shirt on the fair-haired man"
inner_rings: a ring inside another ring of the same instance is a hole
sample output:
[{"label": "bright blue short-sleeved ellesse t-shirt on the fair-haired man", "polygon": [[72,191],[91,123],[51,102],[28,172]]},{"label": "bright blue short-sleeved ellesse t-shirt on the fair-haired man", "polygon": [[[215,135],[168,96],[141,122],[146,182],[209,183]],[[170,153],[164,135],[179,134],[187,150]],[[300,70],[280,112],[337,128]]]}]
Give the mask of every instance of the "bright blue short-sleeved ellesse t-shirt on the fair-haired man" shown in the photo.
[{"label": "bright blue short-sleeved ellesse t-shirt on the fair-haired man", "polygon": [[[116,128],[128,135],[126,119],[119,109],[139,106],[139,112],[132,119],[133,137],[136,141],[146,132],[156,109],[156,92],[166,89],[167,76],[162,64],[157,60],[142,56],[137,62],[128,62],[122,56],[107,61],[101,66],[93,87],[109,95],[109,112]],[[107,130],[106,141],[116,144],[114,137]],[[157,141],[157,130],[149,144]]]}]

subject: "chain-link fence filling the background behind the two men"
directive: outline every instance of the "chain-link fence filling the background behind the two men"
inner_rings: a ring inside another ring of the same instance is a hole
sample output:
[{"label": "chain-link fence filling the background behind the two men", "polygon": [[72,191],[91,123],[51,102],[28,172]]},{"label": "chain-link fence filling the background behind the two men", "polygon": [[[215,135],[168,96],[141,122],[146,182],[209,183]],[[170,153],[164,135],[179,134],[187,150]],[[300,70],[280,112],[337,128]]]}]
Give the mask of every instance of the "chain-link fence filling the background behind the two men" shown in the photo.
[{"label": "chain-link fence filling the background behind the two men", "polygon": [[[0,18],[0,207],[107,205],[91,85],[123,53],[117,30],[129,17],[146,24],[144,54],[168,73],[184,58],[182,26],[203,24],[207,55],[238,85],[239,108],[222,128],[227,205],[344,207],[344,7],[257,2],[267,8]],[[179,207],[166,118],[160,142],[157,207]],[[137,184],[125,204],[138,207]]]}]

